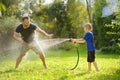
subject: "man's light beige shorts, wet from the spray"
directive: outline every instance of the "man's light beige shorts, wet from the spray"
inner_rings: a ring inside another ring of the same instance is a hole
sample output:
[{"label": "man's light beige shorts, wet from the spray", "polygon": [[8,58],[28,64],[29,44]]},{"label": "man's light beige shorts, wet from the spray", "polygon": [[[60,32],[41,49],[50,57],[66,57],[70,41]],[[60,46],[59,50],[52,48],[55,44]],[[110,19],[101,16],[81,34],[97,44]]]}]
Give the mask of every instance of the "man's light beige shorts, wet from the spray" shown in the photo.
[{"label": "man's light beige shorts, wet from the spray", "polygon": [[37,42],[37,41],[32,41],[30,43],[22,44],[22,47],[20,49],[20,53],[26,54],[26,52],[30,49],[35,51],[36,54],[43,54],[44,53],[42,48],[39,45],[39,42]]}]

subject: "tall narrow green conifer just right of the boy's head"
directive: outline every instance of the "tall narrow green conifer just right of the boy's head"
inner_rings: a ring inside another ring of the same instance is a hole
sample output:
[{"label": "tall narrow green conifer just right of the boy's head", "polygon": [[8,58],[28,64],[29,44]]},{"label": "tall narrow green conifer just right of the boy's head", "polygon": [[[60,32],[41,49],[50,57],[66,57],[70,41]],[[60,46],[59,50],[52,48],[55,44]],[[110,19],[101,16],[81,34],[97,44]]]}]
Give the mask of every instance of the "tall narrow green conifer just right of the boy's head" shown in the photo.
[{"label": "tall narrow green conifer just right of the boy's head", "polygon": [[102,8],[105,5],[105,1],[102,0],[95,0],[94,4],[94,11],[93,11],[93,29],[94,29],[94,35],[95,35],[95,45],[97,48],[101,48],[105,42],[104,42],[104,19],[102,16]]}]

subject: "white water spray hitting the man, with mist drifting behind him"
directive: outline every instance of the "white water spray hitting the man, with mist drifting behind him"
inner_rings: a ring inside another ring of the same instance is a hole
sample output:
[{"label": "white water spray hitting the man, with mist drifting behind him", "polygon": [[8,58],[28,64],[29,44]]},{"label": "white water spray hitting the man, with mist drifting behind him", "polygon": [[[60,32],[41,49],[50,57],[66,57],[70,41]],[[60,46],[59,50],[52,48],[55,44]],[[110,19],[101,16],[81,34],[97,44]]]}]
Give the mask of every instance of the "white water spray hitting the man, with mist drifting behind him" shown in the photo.
[{"label": "white water spray hitting the man, with mist drifting behind him", "polygon": [[[39,38],[38,34],[35,34],[35,40],[38,42],[42,50],[46,51],[47,49],[55,45],[61,44],[65,41],[69,41],[70,39],[67,39],[67,38],[43,39],[43,38]],[[19,54],[19,49],[21,48],[21,45],[22,44],[19,44],[17,41],[12,41],[10,47],[4,48],[3,50],[1,50],[0,54],[4,54],[4,55],[9,54],[8,56],[10,56],[10,59],[15,60]],[[27,59],[28,56],[29,54],[26,54],[25,58]]]}]

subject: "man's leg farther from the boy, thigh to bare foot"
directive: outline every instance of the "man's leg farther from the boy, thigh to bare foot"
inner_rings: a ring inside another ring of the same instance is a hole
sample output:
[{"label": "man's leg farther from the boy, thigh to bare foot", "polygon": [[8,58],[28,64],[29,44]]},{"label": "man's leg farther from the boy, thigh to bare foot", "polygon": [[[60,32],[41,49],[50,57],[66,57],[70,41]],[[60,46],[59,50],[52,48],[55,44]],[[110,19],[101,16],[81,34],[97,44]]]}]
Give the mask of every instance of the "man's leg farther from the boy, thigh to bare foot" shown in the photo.
[{"label": "man's leg farther from the boy, thigh to bare foot", "polygon": [[29,48],[27,48],[27,46],[23,45],[20,51],[20,54],[16,60],[16,66],[15,68],[18,68],[22,58],[25,56],[26,52],[29,50]]}]

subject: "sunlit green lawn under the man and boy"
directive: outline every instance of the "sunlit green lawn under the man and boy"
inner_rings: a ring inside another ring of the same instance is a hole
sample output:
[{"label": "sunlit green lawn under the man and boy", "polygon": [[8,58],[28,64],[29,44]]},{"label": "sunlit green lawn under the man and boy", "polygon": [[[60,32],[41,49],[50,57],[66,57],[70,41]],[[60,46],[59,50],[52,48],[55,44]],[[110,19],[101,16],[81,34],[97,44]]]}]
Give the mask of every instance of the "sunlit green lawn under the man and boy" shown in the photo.
[{"label": "sunlit green lawn under the man and boy", "polygon": [[119,80],[120,55],[96,52],[96,61],[100,72],[87,72],[86,50],[79,48],[80,61],[75,70],[76,50],[46,51],[46,61],[49,69],[44,69],[41,60],[30,51],[24,57],[18,69],[14,69],[18,54],[0,56],[0,80]]}]

